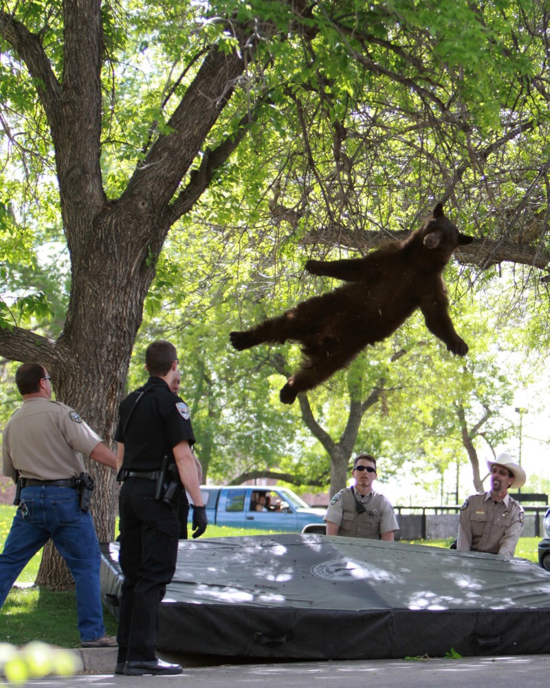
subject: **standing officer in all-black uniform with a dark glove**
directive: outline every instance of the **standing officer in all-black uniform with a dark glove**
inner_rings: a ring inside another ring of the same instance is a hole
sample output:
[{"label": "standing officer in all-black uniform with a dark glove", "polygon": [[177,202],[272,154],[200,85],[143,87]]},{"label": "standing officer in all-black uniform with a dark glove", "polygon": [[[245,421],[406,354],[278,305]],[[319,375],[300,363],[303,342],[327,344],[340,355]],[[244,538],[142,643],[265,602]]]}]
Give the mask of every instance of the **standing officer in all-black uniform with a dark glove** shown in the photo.
[{"label": "standing officer in all-black uniform with a dark glove", "polygon": [[176,570],[182,484],[195,505],[193,537],[207,528],[189,408],[170,391],[178,374],[176,347],[163,340],[152,343],[145,367],[149,380],[120,404],[115,436],[123,480],[119,563],[124,574],[115,673],[129,676],[182,672],[180,665],[155,654],[158,608]]}]

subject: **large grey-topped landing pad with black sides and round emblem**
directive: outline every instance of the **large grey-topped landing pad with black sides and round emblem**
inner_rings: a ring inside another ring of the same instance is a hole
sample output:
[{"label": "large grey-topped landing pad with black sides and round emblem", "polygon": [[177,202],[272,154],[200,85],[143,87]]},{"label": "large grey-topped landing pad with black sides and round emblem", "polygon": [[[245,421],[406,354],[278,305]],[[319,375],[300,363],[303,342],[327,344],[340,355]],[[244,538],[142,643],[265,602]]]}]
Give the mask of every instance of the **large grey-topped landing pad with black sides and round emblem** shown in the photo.
[{"label": "large grey-topped landing pad with black sides and round emblem", "polygon": [[[116,615],[118,543],[102,546]],[[525,559],[326,535],[181,540],[160,605],[172,654],[382,659],[546,654],[550,572]]]}]

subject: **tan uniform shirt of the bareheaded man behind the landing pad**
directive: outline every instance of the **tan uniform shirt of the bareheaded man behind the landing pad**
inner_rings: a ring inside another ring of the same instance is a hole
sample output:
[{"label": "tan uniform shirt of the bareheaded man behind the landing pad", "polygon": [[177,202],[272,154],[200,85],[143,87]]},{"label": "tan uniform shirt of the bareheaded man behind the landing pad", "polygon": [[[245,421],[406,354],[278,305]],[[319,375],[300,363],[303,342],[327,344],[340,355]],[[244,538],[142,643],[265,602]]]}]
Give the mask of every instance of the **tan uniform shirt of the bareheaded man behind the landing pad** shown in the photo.
[{"label": "tan uniform shirt of the bareheaded man behind the landing pad", "polygon": [[357,502],[349,487],[330,499],[324,520],[340,527],[338,535],[378,540],[381,533],[399,530],[392,505],[384,495],[372,491],[363,497],[357,490],[355,494],[365,507],[364,513],[357,513]]}]

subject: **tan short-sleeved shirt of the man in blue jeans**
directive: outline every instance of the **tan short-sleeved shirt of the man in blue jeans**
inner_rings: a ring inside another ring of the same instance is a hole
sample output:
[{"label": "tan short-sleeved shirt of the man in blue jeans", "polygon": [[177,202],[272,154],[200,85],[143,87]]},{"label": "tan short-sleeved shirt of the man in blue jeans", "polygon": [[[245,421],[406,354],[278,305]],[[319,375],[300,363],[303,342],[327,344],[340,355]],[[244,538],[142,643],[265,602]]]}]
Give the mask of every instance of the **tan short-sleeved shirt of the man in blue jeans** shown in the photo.
[{"label": "tan short-sleeved shirt of the man in blue jeans", "polygon": [[25,399],[3,431],[3,474],[15,480],[65,480],[85,471],[101,438],[65,404],[43,397]]}]

